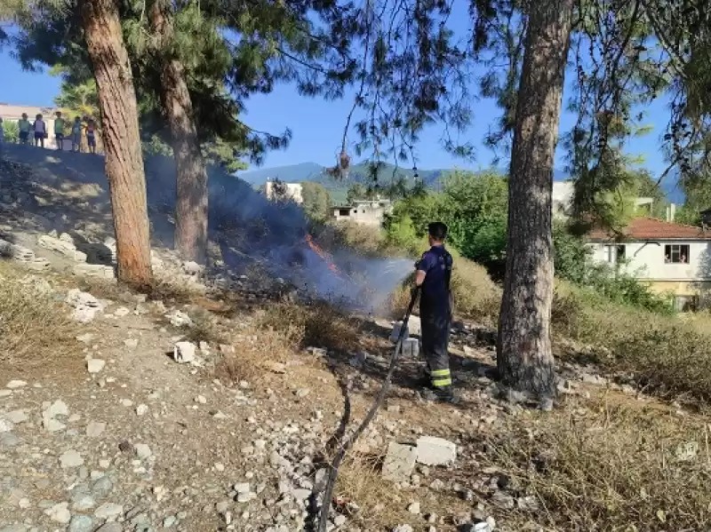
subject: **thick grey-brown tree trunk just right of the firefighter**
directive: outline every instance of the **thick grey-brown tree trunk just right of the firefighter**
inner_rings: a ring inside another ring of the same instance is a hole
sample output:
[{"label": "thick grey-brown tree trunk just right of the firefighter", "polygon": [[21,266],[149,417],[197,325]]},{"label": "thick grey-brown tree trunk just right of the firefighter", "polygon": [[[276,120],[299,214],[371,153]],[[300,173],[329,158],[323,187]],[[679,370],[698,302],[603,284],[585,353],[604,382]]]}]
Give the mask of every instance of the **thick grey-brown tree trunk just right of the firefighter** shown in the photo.
[{"label": "thick grey-brown tree trunk just right of the firefighter", "polygon": [[506,278],[499,316],[499,377],[555,397],[551,195],[573,0],[531,2],[508,183]]}]

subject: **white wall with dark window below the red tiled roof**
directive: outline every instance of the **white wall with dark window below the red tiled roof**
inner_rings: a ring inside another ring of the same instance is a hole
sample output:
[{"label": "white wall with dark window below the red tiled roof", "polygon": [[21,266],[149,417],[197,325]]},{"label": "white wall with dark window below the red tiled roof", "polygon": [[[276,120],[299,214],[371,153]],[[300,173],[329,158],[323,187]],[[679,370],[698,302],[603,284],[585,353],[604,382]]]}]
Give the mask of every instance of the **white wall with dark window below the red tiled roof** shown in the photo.
[{"label": "white wall with dark window below the red tiled roof", "polygon": [[[677,282],[680,290],[689,282],[711,281],[711,241],[658,241],[626,242],[625,258],[627,264],[621,266],[628,274],[639,279],[654,282]],[[684,264],[667,263],[665,249],[667,245],[689,246],[689,256]],[[602,243],[590,244],[593,258],[597,261],[616,264],[617,248],[615,245]],[[681,283],[681,284],[678,284]],[[686,290],[684,288],[684,290]]]}]

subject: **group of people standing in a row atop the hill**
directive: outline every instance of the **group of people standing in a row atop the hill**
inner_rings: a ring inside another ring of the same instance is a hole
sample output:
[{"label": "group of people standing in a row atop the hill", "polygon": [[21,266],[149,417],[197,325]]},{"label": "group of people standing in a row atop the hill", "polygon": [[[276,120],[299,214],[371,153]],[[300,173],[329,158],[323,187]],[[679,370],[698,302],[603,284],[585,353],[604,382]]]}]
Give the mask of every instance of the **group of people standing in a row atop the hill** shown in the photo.
[{"label": "group of people standing in a row atop the hill", "polygon": [[[22,145],[28,143],[34,144],[36,147],[44,147],[44,140],[49,139],[49,131],[47,131],[47,123],[44,122],[42,115],[35,116],[35,122],[28,120],[27,113],[22,113],[22,117],[18,121],[19,141]],[[68,136],[66,135],[68,133]],[[54,119],[54,139],[57,141],[57,149],[64,149],[64,139],[72,141],[72,151],[81,152],[82,137],[86,137],[86,144],[92,154],[96,153],[96,123],[91,119],[85,119],[84,122],[79,116],[76,116],[74,122],[68,123],[60,111],[55,113]],[[3,119],[0,118],[0,144],[4,142]],[[1,149],[1,147],[0,147]]]}]

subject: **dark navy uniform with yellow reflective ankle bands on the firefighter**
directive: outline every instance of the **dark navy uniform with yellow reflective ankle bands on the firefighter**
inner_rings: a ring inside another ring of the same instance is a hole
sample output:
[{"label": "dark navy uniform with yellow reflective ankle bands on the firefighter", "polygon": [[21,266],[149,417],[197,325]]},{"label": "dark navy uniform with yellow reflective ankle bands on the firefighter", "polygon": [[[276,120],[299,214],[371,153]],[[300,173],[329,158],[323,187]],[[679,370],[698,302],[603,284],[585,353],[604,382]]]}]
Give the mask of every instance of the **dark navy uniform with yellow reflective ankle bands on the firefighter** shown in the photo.
[{"label": "dark navy uniform with yellow reflective ankle bands on the firefighter", "polygon": [[422,352],[427,359],[431,385],[435,390],[451,390],[448,345],[451,326],[452,263],[450,253],[441,245],[432,246],[417,263],[417,269],[426,274],[419,300]]}]

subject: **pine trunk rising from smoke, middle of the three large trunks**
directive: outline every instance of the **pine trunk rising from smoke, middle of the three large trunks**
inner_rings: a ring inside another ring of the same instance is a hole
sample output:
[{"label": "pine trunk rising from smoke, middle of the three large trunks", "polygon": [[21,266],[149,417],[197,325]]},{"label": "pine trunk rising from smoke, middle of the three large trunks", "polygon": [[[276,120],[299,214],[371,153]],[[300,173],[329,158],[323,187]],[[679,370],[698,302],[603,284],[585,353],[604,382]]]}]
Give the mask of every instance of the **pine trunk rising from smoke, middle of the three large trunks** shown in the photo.
[{"label": "pine trunk rising from smoke, middle of the three large trunks", "polygon": [[156,57],[161,69],[161,101],[170,124],[178,169],[175,247],[181,258],[204,264],[207,254],[207,168],[200,151],[185,68],[170,51],[174,29],[169,2],[156,0],[151,10],[151,26],[156,36]]}]

